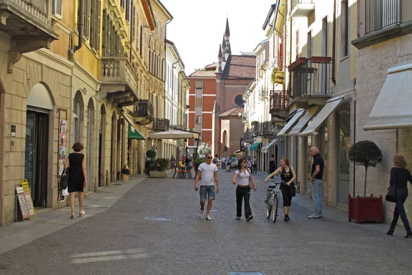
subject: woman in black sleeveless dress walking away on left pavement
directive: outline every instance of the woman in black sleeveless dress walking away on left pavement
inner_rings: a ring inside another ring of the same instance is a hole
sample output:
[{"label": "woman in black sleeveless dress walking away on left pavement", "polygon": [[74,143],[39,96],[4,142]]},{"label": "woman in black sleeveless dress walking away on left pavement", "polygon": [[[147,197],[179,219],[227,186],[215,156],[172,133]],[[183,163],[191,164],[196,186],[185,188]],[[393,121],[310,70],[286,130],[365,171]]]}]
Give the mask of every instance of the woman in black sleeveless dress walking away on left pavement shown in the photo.
[{"label": "woman in black sleeveless dress walking away on left pavement", "polygon": [[78,192],[79,197],[79,217],[84,215],[83,211],[83,188],[87,186],[87,174],[86,174],[86,157],[80,153],[83,150],[83,144],[76,142],[73,145],[74,153],[71,153],[67,157],[65,162],[65,169],[69,168],[69,193],[70,193],[70,208],[71,219],[75,218],[74,215],[74,195]]}]

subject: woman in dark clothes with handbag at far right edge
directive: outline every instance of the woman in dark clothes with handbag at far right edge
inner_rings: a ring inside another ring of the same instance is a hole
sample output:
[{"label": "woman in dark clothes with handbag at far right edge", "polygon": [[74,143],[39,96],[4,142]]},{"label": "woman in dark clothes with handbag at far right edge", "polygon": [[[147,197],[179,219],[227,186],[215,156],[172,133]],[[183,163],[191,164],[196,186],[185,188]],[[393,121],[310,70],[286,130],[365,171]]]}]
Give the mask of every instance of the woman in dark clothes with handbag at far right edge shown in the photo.
[{"label": "woman in dark clothes with handbag at far right edge", "polygon": [[408,181],[412,184],[411,172],[406,168],[407,162],[402,155],[393,156],[393,165],[395,167],[391,168],[391,177],[389,183],[391,185],[395,184],[395,210],[393,211],[393,220],[391,222],[391,227],[387,232],[388,235],[392,235],[395,231],[396,223],[398,219],[402,219],[405,229],[407,230],[407,236],[405,238],[412,238],[411,226],[409,226],[409,221],[407,213],[405,212],[404,202],[408,197]]}]

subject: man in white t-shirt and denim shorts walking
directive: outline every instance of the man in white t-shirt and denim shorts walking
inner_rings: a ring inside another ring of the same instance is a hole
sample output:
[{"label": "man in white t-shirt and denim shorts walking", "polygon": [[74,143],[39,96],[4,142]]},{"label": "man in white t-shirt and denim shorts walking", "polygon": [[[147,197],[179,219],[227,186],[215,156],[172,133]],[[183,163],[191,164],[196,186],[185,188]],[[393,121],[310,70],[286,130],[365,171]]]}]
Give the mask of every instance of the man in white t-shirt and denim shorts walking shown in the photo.
[{"label": "man in white t-shirt and denim shorts walking", "polygon": [[212,164],[211,159],[213,159],[211,154],[207,154],[206,162],[203,162],[201,165],[199,165],[198,173],[196,174],[196,178],[194,179],[194,190],[197,191],[197,182],[199,180],[199,177],[201,177],[201,210],[199,210],[199,214],[203,215],[203,210],[205,209],[205,201],[207,199],[207,221],[211,221],[210,210],[211,202],[215,199],[215,182],[216,193],[219,192],[218,166],[216,166],[216,164]]}]

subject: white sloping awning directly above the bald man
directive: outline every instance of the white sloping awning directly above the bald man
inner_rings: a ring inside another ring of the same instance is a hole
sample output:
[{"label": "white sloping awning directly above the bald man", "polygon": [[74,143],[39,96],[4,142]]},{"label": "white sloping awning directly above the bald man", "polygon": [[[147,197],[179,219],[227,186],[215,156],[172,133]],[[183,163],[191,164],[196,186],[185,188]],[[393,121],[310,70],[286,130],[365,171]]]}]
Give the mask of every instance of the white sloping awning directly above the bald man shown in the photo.
[{"label": "white sloping awning directly above the bald man", "polygon": [[299,135],[301,137],[307,135],[317,135],[317,130],[322,125],[322,123],[328,118],[328,116],[333,113],[343,102],[350,100],[348,96],[336,96],[334,98],[330,98],[330,100],[326,101],[325,106],[319,111],[319,113],[313,118],[313,120],[309,123],[309,125],[302,131]]}]

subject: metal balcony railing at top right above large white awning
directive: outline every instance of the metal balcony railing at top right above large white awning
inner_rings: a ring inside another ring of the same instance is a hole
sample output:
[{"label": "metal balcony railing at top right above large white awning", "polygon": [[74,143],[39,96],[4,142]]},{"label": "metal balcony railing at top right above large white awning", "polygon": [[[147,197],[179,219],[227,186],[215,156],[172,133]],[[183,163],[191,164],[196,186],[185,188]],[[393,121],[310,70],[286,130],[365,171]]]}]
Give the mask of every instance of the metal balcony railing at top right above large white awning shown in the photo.
[{"label": "metal balcony railing at top right above large white awning", "polygon": [[402,23],[402,0],[365,0],[365,33]]}]

